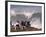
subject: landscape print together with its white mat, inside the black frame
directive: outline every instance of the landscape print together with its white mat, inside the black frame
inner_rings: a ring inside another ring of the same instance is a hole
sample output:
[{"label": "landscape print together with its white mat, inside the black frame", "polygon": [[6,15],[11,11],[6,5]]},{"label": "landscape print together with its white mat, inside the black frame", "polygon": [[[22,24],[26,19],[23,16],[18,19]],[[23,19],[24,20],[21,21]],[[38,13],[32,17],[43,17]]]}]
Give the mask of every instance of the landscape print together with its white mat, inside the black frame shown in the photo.
[{"label": "landscape print together with its white mat, inside the black frame", "polygon": [[44,33],[44,4],[8,2],[8,35]]}]

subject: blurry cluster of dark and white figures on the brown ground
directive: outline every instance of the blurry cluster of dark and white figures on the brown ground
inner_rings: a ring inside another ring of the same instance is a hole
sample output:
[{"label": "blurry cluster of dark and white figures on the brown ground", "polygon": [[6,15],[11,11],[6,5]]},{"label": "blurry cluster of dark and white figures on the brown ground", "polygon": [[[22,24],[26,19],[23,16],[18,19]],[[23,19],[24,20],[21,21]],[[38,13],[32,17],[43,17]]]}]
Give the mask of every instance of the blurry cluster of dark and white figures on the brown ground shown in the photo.
[{"label": "blurry cluster of dark and white figures on the brown ground", "polygon": [[13,24],[15,29],[24,29],[25,27],[30,27],[30,25],[30,21],[16,21],[15,24]]}]

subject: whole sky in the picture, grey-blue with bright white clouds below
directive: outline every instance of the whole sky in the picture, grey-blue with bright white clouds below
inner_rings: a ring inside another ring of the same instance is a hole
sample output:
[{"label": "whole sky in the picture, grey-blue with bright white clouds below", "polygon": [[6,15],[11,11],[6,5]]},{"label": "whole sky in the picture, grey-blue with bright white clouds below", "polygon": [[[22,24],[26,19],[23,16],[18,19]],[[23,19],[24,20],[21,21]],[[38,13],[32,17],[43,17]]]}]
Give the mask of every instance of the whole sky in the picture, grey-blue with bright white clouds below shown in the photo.
[{"label": "whole sky in the picture, grey-blue with bright white clouds below", "polygon": [[42,12],[41,6],[29,6],[29,5],[10,5],[12,15],[24,14],[25,16],[31,17],[33,13]]}]

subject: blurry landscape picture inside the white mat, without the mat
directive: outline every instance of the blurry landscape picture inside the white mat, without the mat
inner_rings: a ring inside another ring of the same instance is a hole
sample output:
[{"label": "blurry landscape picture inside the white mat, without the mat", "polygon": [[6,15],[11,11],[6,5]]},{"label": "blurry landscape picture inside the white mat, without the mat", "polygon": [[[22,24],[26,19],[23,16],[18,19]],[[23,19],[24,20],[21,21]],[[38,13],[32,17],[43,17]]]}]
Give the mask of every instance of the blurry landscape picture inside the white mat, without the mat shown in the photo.
[{"label": "blurry landscape picture inside the white mat, without the mat", "polygon": [[10,5],[11,32],[42,30],[42,6]]}]

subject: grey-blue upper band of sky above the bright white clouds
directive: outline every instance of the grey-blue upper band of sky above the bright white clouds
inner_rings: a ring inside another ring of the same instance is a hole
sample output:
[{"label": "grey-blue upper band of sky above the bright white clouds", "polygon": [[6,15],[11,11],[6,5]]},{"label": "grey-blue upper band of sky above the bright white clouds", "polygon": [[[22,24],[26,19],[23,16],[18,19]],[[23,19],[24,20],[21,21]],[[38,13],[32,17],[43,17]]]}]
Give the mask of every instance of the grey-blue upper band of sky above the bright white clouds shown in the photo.
[{"label": "grey-blue upper band of sky above the bright white clouds", "polygon": [[41,12],[41,6],[26,6],[26,5],[11,5],[11,10],[14,10],[16,13],[25,12]]}]

